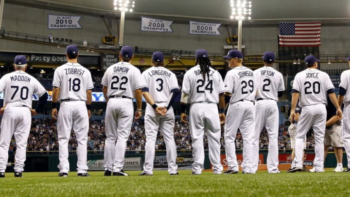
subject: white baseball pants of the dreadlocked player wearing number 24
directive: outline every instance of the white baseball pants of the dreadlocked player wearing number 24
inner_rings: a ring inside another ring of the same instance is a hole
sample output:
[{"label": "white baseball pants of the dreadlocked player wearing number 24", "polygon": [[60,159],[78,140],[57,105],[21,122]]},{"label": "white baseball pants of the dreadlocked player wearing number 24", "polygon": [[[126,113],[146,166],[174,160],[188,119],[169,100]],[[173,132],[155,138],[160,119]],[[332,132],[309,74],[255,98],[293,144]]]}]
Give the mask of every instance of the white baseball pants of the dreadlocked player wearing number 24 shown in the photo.
[{"label": "white baseball pants of the dreadlocked player wearing number 24", "polygon": [[190,132],[192,138],[192,172],[201,174],[204,167],[204,131],[208,136],[209,160],[214,174],[221,174],[220,162],[221,126],[216,104],[194,103],[190,108]]}]

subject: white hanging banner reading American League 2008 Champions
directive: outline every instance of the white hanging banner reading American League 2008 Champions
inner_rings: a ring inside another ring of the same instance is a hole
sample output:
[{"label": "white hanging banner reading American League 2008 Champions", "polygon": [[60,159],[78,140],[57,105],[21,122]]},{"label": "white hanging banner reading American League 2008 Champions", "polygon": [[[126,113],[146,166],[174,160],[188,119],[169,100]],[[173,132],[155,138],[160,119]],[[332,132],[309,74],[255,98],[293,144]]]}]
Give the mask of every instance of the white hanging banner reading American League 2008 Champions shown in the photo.
[{"label": "white hanging banner reading American League 2008 Champions", "polygon": [[219,27],[221,23],[207,23],[190,20],[189,34],[195,35],[221,35]]}]

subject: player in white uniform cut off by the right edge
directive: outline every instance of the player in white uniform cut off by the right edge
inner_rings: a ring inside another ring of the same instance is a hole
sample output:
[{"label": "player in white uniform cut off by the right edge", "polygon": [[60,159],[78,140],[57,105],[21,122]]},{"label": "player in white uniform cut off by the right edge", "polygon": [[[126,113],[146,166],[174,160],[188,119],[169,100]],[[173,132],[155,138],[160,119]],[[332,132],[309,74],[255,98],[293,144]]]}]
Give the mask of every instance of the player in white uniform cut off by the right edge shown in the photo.
[{"label": "player in white uniform cut off by the right edge", "polygon": [[[350,56],[345,60],[348,61],[350,67]],[[345,151],[348,159],[348,166],[344,172],[350,172],[350,70],[342,72],[340,75],[338,105],[344,103],[344,120],[342,127],[342,136]]]}]

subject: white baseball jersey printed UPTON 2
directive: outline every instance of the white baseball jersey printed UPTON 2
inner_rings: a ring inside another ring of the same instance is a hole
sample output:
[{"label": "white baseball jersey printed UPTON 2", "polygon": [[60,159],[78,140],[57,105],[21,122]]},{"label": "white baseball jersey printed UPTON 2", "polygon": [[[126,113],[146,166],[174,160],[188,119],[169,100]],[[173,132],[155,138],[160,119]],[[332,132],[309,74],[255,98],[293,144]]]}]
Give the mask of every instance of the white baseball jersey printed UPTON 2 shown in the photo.
[{"label": "white baseball jersey printed UPTON 2", "polygon": [[285,90],[282,73],[272,67],[264,66],[254,71],[259,95],[257,99],[273,99],[277,101],[278,91]]}]

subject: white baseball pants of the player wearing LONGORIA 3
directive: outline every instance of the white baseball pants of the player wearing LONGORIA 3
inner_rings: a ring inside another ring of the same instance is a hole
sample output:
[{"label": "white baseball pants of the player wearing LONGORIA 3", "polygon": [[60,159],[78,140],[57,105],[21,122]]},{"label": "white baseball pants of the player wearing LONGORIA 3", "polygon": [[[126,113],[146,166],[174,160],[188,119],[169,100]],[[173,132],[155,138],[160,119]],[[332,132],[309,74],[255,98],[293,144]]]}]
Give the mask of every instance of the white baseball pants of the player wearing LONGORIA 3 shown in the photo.
[{"label": "white baseball pants of the player wearing LONGORIA 3", "polygon": [[[166,103],[157,103],[157,106],[164,106]],[[155,158],[155,144],[157,140],[158,128],[163,134],[164,143],[166,146],[166,156],[168,161],[169,174],[175,174],[177,172],[176,164],[176,145],[174,140],[174,125],[175,116],[173,107],[170,107],[165,116],[158,115],[152,106],[147,104],[145,117],[145,161],[143,164],[143,172],[152,175],[153,174],[153,161]]]}]

